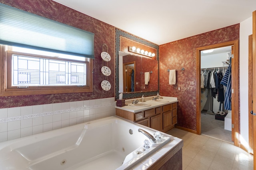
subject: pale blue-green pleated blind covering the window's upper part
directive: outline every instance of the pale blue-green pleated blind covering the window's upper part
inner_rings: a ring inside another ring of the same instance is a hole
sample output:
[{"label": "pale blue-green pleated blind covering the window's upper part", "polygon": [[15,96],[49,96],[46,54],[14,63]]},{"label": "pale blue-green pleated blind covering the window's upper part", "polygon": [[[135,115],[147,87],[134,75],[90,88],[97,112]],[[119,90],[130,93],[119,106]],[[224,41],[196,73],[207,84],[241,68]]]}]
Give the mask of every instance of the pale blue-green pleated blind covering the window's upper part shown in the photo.
[{"label": "pale blue-green pleated blind covering the window's upper part", "polygon": [[94,58],[94,33],[4,4],[0,44]]}]

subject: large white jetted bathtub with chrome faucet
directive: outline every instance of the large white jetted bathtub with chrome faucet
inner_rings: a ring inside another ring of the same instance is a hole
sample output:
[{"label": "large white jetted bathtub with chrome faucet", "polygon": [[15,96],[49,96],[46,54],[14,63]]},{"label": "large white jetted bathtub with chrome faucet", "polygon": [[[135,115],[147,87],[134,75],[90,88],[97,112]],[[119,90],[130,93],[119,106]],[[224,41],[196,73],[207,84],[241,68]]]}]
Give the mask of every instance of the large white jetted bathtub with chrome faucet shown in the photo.
[{"label": "large white jetted bathtub with chrome faucet", "polygon": [[1,170],[124,170],[152,154],[172,136],[161,133],[157,143],[144,149],[148,139],[138,129],[155,131],[118,117],[81,123],[46,133],[0,143]]}]

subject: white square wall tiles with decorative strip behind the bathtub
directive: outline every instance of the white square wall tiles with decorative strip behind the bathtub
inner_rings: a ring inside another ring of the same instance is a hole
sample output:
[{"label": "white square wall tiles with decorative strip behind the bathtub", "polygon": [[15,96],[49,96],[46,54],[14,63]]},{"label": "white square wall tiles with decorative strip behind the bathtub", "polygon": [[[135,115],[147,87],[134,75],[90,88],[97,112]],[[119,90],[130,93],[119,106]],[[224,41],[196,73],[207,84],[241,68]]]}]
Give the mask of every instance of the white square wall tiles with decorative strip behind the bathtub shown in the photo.
[{"label": "white square wall tiles with decorative strip behind the bathtub", "polygon": [[115,115],[115,98],[0,109],[0,142]]}]

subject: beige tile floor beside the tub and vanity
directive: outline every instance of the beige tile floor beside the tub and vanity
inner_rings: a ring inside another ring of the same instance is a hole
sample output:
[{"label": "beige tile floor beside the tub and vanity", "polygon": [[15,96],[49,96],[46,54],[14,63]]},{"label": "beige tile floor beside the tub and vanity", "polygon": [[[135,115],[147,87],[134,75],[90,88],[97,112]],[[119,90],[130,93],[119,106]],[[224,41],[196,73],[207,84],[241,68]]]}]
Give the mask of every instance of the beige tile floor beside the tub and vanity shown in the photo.
[{"label": "beige tile floor beside the tub and vanity", "polygon": [[234,144],[173,128],[167,132],[183,139],[183,170],[253,170],[253,156]]}]

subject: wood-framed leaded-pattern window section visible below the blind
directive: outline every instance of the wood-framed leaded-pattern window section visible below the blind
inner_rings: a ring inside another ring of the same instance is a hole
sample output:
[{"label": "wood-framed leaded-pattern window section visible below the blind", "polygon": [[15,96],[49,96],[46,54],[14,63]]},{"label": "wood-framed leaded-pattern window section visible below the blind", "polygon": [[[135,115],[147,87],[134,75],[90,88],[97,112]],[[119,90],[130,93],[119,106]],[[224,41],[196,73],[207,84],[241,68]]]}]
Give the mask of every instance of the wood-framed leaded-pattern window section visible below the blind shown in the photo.
[{"label": "wood-framed leaded-pattern window section visible below the blind", "polygon": [[1,96],[92,92],[92,59],[1,46]]}]

